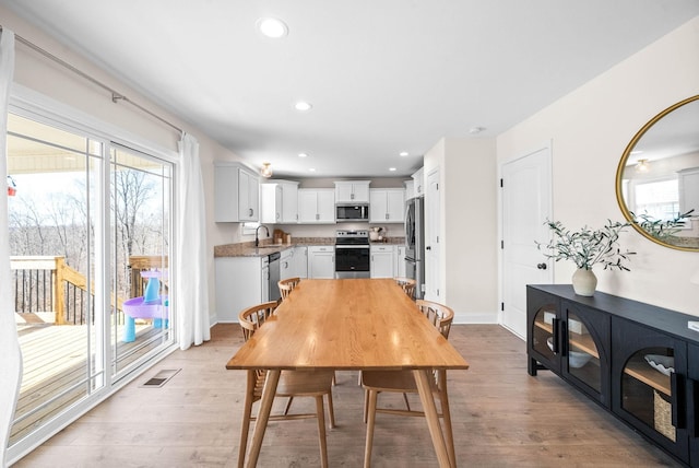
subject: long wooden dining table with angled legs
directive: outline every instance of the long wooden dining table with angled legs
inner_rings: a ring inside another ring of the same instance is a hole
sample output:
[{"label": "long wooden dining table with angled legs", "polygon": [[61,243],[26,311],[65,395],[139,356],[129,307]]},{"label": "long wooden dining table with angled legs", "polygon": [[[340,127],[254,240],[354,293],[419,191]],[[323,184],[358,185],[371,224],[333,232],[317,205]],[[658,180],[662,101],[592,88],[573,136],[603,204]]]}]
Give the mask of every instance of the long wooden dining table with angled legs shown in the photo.
[{"label": "long wooden dining table with angled legs", "polygon": [[284,370],[413,371],[439,466],[455,466],[430,378],[434,368],[466,370],[469,363],[392,279],[301,280],[226,368],[268,370],[248,467],[257,465]]}]

